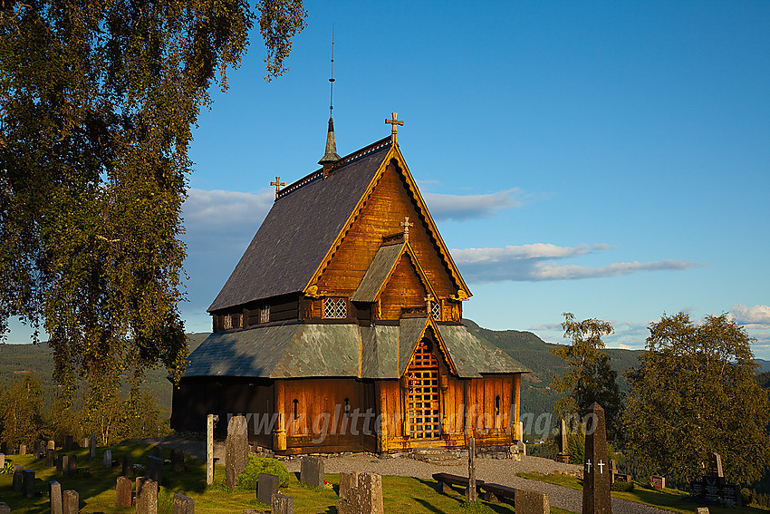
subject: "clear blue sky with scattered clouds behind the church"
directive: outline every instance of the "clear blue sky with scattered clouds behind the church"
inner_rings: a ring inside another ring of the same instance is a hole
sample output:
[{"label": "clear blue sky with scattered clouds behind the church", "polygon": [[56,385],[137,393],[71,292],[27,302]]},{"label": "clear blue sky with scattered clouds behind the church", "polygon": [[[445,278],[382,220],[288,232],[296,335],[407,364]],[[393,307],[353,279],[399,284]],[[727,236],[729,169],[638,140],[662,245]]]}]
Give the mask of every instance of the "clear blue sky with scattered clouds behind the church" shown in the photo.
[{"label": "clear blue sky with scattered clouds behind the church", "polygon": [[[770,359],[770,3],[307,2],[289,71],[259,34],[195,131],[188,330],[273,199],[399,145],[474,296],[466,317],[562,340],[563,312],[641,348],[660,315],[731,313]],[[11,337],[13,340],[13,335]]]}]

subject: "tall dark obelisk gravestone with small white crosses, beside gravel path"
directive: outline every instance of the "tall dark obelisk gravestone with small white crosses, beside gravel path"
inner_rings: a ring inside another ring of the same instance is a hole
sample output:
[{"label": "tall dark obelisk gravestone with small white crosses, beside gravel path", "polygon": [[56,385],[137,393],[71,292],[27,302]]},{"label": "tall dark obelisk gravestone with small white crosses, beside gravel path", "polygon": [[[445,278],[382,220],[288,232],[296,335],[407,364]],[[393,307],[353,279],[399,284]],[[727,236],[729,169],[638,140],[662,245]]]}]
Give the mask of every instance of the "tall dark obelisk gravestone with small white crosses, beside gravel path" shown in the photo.
[{"label": "tall dark obelisk gravestone with small white crosses, beside gravel path", "polygon": [[585,427],[585,466],[582,479],[582,511],[612,514],[607,432],[602,405],[593,402],[588,408]]}]

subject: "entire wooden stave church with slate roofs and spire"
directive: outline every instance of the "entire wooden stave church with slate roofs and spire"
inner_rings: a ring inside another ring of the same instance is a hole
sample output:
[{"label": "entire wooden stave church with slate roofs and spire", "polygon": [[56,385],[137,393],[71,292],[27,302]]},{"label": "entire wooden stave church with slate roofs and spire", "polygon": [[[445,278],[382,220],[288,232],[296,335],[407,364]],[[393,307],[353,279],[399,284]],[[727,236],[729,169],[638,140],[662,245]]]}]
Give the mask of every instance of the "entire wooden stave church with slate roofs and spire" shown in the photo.
[{"label": "entire wooden stave church with slate roofs and spire", "polygon": [[[172,428],[243,414],[278,454],[510,446],[525,368],[462,325],[471,296],[390,137],[280,189],[208,309]],[[220,435],[223,432],[219,432]]]}]

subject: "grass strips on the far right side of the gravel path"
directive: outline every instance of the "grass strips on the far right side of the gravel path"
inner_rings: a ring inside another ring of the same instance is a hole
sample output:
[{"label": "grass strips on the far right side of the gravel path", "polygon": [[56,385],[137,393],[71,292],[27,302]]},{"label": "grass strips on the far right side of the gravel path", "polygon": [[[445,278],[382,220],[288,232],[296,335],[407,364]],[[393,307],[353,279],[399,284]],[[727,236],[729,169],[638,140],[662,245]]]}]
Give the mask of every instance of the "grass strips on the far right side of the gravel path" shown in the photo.
[{"label": "grass strips on the far right side of the gravel path", "polygon": [[[539,480],[575,490],[582,490],[582,480],[575,477],[557,474],[541,475],[539,473],[517,473],[516,475],[524,479]],[[629,499],[630,501],[637,501],[639,503],[660,507],[661,509],[682,512],[683,514],[692,514],[695,512],[696,507],[705,507],[703,504],[693,503],[688,499],[682,499],[681,496],[684,493],[680,490],[652,490],[647,489],[639,482],[634,482],[634,485],[636,487],[630,492],[613,490],[612,498]],[[725,507],[714,506],[708,507],[708,511],[711,514],[767,514],[768,510],[770,509],[765,509],[763,507],[744,507],[742,509],[727,509]]]}]

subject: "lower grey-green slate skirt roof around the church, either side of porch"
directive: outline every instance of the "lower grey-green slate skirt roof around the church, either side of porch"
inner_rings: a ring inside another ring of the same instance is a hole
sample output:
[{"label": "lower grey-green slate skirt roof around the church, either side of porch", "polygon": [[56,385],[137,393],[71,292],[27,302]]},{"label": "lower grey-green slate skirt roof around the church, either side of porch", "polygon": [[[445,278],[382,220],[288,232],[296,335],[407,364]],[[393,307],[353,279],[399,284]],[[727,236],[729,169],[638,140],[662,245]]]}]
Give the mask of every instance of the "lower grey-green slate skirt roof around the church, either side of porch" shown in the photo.
[{"label": "lower grey-green slate skirt roof around the church, either side of porch", "polygon": [[[185,376],[399,378],[427,322],[423,317],[404,318],[400,326],[287,323],[218,332],[190,354]],[[529,371],[463,325],[438,325],[438,332],[460,377]]]}]

